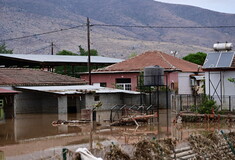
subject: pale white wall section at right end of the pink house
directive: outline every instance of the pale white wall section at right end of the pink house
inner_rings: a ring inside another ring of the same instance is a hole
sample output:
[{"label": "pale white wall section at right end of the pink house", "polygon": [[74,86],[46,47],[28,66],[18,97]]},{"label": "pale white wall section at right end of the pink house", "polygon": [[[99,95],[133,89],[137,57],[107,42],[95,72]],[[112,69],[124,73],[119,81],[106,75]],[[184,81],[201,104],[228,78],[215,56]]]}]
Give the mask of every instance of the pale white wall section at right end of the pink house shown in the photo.
[{"label": "pale white wall section at right end of the pink house", "polygon": [[178,74],[178,94],[192,94],[190,75],[194,73],[182,73]]}]

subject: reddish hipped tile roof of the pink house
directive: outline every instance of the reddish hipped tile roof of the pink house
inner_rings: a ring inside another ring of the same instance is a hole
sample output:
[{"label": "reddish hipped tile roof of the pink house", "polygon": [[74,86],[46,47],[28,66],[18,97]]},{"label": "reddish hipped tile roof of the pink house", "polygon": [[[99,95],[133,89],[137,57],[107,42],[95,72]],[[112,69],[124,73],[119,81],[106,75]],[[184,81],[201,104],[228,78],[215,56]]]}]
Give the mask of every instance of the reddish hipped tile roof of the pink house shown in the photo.
[{"label": "reddish hipped tile roof of the pink house", "polygon": [[158,65],[165,69],[181,70],[182,72],[197,72],[198,65],[171,56],[160,51],[148,51],[126,61],[113,64],[103,69],[98,69],[95,72],[107,71],[141,71],[147,66]]}]

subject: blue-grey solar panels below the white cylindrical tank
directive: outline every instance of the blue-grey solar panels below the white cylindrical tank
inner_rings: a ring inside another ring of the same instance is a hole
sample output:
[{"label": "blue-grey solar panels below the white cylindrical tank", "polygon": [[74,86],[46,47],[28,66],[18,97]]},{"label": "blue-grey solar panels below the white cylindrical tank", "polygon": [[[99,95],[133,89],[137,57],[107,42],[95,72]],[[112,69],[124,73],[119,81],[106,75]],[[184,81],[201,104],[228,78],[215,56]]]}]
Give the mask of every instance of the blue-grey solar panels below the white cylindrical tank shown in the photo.
[{"label": "blue-grey solar panels below the white cylindrical tank", "polygon": [[208,53],[203,68],[227,68],[231,67],[234,52]]}]

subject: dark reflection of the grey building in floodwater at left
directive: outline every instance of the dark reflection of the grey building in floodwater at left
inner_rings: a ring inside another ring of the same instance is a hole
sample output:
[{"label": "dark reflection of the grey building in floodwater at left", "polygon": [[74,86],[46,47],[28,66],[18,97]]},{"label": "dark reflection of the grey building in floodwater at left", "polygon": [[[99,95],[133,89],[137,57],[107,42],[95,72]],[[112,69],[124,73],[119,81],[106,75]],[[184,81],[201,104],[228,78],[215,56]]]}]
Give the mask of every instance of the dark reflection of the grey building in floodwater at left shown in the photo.
[{"label": "dark reflection of the grey building in floodwater at left", "polygon": [[73,126],[53,127],[52,121],[79,119],[80,114],[20,114],[15,119],[0,123],[0,146],[14,144],[21,140],[54,136],[65,133],[78,133],[81,129]]}]

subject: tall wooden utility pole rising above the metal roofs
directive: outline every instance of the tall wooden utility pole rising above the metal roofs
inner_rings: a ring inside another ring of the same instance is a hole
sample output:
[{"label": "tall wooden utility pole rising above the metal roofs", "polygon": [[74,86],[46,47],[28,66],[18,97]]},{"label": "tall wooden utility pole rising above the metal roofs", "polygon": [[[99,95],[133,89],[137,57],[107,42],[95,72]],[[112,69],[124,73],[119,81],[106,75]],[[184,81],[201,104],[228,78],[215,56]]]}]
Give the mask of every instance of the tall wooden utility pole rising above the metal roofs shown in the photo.
[{"label": "tall wooden utility pole rising above the metal roofs", "polygon": [[87,17],[87,51],[88,51],[88,73],[89,73],[89,85],[91,85],[91,49],[90,49],[90,20]]}]

